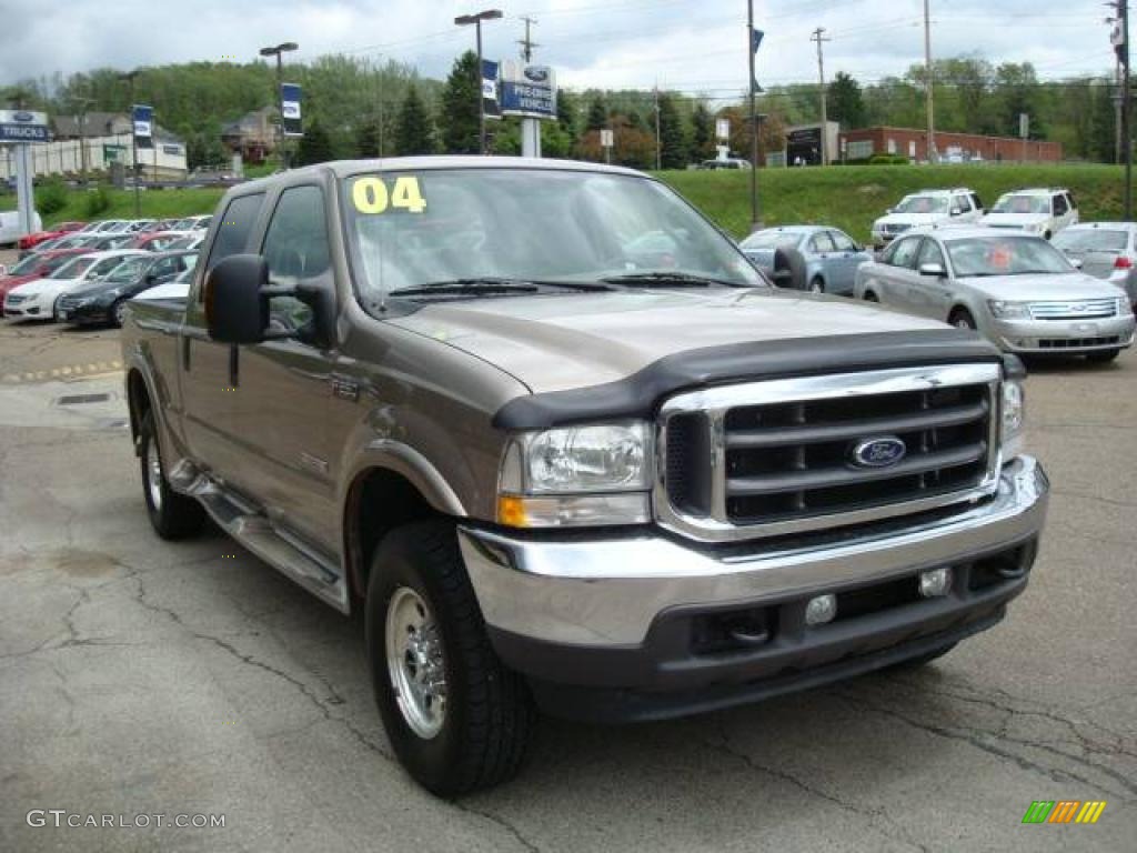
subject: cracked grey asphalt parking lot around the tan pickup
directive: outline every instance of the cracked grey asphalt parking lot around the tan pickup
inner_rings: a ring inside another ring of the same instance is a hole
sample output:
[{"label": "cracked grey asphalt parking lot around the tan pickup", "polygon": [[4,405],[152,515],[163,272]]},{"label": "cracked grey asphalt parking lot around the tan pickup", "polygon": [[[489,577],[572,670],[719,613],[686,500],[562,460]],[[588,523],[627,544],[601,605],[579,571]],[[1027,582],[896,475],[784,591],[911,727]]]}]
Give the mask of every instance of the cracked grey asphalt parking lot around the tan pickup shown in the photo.
[{"label": "cracked grey asphalt parking lot around the tan pickup", "polygon": [[[116,358],[114,332],[0,323],[2,851],[1134,850],[1132,353],[1032,372],[1054,492],[1003,624],[923,670],[763,705],[546,721],[517,780],[453,804],[392,760],[358,618],[218,532],[151,532]],[[1107,805],[1023,826],[1037,800]]]}]

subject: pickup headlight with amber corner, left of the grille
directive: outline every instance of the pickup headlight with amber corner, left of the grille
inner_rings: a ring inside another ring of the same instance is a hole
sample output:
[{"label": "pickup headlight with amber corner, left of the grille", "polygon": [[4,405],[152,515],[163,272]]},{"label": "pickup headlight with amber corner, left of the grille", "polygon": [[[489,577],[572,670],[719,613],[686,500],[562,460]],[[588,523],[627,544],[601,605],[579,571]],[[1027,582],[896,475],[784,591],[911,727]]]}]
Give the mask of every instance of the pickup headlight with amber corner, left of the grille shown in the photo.
[{"label": "pickup headlight with amber corner, left of the grille", "polygon": [[516,436],[501,459],[498,521],[511,527],[649,520],[650,431],[642,422]]}]

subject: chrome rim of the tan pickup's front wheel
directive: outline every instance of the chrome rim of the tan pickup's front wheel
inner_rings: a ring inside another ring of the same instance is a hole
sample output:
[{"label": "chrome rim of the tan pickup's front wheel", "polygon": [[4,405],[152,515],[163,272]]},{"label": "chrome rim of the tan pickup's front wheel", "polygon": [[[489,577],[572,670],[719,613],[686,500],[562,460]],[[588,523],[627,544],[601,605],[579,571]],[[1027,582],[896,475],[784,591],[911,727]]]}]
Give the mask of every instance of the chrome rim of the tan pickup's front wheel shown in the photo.
[{"label": "chrome rim of the tan pickup's front wheel", "polygon": [[415,590],[395,590],[385,633],[387,671],[399,713],[412,731],[430,740],[446,722],[446,660],[434,618]]}]

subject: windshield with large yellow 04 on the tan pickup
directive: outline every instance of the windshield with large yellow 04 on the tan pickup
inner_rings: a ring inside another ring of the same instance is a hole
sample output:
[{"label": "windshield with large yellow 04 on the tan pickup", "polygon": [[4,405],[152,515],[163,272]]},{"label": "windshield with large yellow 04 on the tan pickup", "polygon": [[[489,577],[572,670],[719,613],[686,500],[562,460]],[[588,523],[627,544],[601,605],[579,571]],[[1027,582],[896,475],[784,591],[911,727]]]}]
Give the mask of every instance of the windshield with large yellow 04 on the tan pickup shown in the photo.
[{"label": "windshield with large yellow 04 on the tan pickup", "polygon": [[665,273],[764,283],[687,202],[644,177],[430,169],[356,175],[343,193],[360,297],[370,301],[472,279],[595,283]]}]

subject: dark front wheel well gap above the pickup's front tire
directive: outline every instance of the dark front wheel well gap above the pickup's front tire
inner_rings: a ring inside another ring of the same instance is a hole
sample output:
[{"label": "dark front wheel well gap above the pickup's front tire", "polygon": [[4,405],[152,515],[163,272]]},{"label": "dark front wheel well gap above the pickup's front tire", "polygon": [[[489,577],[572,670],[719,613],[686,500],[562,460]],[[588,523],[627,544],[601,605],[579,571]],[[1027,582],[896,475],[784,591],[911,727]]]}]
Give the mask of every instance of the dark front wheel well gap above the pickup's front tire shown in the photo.
[{"label": "dark front wheel well gap above the pickup's front tire", "polygon": [[385,469],[359,474],[348,489],[343,523],[351,591],[359,598],[366,595],[372,556],[389,532],[412,521],[441,515],[401,474]]}]

